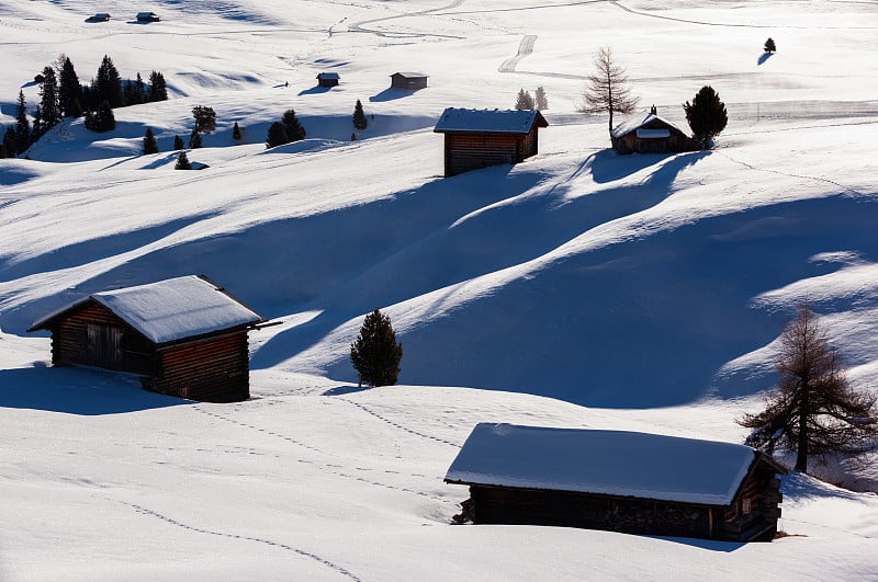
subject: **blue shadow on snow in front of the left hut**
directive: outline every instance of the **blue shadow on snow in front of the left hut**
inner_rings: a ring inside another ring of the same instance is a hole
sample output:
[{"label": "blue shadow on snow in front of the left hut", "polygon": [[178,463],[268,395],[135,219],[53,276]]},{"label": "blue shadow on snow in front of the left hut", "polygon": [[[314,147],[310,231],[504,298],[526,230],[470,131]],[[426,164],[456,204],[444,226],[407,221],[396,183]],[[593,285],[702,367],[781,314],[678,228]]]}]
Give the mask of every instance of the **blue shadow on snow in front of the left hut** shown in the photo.
[{"label": "blue shadow on snow in front of the left hut", "polygon": [[148,392],[139,378],[78,367],[0,369],[0,407],[100,415],[191,403]]}]

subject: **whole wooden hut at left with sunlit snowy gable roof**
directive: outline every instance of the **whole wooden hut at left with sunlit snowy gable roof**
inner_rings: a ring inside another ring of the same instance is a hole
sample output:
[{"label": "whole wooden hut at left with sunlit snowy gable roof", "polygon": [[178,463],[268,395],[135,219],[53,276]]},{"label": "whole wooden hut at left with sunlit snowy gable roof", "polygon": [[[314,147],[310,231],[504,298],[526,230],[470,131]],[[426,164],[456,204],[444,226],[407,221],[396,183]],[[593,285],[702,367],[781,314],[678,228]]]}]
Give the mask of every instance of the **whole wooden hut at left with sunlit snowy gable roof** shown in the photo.
[{"label": "whole wooden hut at left with sunlit snowy gable roof", "polygon": [[249,398],[247,330],[264,318],[203,276],[94,293],[36,321],[52,363],[130,372],[191,400]]}]

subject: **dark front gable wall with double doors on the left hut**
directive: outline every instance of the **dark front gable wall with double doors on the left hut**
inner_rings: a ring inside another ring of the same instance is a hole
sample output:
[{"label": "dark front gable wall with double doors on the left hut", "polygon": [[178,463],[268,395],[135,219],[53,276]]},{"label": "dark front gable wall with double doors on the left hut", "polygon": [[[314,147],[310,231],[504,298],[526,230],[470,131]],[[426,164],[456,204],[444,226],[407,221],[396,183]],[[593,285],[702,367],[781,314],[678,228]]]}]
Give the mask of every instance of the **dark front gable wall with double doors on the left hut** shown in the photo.
[{"label": "dark front gable wall with double doors on the left hut", "polygon": [[52,363],[155,373],[155,347],[134,328],[89,301],[52,327]]}]

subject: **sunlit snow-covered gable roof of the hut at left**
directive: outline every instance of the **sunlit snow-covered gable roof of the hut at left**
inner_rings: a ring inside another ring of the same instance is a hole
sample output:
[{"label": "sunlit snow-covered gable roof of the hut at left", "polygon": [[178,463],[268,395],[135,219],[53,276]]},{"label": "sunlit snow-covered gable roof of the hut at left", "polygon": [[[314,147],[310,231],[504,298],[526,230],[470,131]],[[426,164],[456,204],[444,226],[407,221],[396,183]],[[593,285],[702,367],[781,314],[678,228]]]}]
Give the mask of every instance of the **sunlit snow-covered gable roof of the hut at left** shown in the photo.
[{"label": "sunlit snow-covered gable roof of the hut at left", "polygon": [[264,321],[223,287],[188,275],[91,294],[34,322],[31,330],[43,329],[57,316],[88,300],[102,305],[156,344]]}]

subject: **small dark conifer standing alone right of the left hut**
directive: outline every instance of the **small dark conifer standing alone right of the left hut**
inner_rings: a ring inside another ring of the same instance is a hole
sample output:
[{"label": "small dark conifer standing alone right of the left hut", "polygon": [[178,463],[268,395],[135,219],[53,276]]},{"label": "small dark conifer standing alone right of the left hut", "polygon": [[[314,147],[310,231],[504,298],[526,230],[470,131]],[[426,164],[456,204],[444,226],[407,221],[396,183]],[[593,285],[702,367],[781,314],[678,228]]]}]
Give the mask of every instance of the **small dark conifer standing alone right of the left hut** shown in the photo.
[{"label": "small dark conifer standing alone right of the left hut", "polygon": [[391,318],[375,309],[363,320],[360,334],[350,344],[350,361],[360,384],[392,386],[399,375],[403,344],[396,343]]}]

